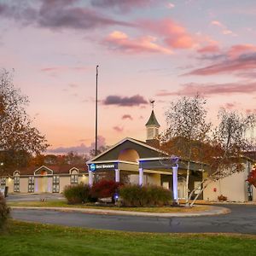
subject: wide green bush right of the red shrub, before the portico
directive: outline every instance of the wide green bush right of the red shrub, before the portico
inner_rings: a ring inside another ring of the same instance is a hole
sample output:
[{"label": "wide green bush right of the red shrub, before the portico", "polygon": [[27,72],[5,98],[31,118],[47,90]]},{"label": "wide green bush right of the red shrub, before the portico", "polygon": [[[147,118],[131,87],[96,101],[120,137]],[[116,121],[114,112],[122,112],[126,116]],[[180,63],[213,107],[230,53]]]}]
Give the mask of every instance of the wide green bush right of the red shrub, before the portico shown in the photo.
[{"label": "wide green bush right of the red shrub, before the portico", "polygon": [[119,189],[119,195],[124,207],[162,207],[172,201],[170,190],[154,185],[125,185]]}]

